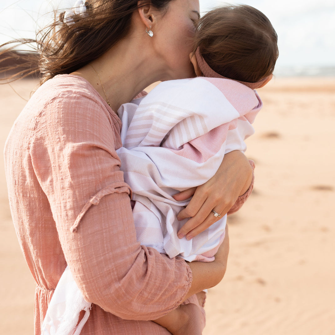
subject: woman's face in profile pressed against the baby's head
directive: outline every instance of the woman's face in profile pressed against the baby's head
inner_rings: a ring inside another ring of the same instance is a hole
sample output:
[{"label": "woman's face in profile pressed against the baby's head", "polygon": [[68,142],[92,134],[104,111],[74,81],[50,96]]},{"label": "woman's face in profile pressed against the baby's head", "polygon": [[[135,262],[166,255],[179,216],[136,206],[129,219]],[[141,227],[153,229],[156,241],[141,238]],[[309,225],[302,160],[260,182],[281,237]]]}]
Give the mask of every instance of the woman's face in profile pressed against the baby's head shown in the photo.
[{"label": "woman's face in profile pressed against the baby's head", "polygon": [[173,0],[152,29],[155,51],[166,64],[166,78],[162,80],[195,76],[189,54],[193,51],[192,38],[199,10],[199,0]]}]

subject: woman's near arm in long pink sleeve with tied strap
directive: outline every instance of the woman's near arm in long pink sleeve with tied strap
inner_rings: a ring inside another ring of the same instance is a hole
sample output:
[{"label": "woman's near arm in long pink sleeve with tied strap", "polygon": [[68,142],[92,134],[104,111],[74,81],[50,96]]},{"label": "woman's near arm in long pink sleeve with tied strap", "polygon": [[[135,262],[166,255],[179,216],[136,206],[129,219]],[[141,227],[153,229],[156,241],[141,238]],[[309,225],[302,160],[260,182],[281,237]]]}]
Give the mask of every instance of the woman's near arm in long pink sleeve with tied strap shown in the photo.
[{"label": "woman's near arm in long pink sleeve with tied strap", "polygon": [[57,97],[36,126],[31,159],[84,297],[120,318],[153,320],[180,305],[188,292],[215,285],[225,265],[209,265],[212,279],[208,271],[200,275],[205,264],[192,264],[192,281],[183,259],[136,241],[131,191],[115,152],[118,127],[92,97]]}]

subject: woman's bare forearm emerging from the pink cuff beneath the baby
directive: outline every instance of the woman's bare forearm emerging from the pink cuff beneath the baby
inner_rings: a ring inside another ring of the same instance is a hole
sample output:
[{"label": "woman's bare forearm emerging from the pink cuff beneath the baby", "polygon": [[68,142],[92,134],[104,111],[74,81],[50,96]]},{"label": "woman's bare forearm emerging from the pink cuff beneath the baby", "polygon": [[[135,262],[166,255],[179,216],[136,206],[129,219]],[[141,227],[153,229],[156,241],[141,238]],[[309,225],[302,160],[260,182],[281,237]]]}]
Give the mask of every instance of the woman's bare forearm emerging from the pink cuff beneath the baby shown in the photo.
[{"label": "woman's bare forearm emerging from the pink cuff beneath the baby", "polygon": [[227,269],[227,260],[229,254],[229,235],[226,225],[225,236],[220,245],[215,260],[213,262],[191,262],[188,263],[192,270],[192,285],[183,301],[191,295],[201,292],[206,288],[217,285],[223,278]]}]

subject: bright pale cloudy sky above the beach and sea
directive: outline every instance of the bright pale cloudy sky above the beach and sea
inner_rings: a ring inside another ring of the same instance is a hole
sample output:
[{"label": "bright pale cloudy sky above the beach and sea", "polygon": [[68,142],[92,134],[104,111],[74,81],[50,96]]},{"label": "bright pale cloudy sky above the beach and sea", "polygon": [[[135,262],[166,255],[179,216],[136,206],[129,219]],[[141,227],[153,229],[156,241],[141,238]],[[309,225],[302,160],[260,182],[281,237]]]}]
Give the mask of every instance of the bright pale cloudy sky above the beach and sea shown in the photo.
[{"label": "bright pale cloudy sky above the beach and sea", "polygon": [[[48,23],[52,8],[72,7],[75,0],[0,0],[0,44],[12,38],[34,38],[36,22]],[[205,12],[224,4],[200,0]],[[279,58],[276,68],[335,67],[334,0],[244,0],[262,11],[278,34]],[[39,18],[39,19],[38,19]]]}]

